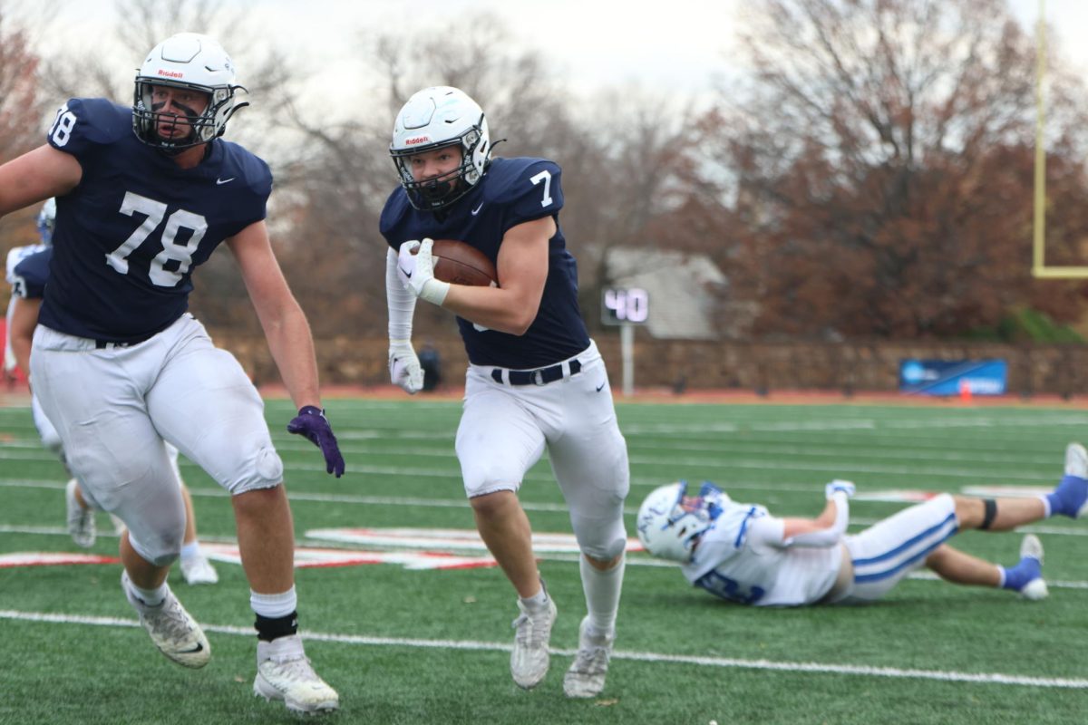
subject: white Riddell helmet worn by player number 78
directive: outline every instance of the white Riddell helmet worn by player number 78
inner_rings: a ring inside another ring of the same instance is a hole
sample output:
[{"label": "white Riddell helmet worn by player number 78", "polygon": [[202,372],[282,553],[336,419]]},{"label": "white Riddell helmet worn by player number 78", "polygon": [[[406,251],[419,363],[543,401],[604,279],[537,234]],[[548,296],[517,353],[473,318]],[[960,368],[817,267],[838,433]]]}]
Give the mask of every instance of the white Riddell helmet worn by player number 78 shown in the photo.
[{"label": "white Riddell helmet worn by player number 78", "polygon": [[[193,133],[184,139],[163,139],[156,132],[159,116],[151,104],[152,86],[188,88],[208,95],[208,108],[189,117]],[[249,103],[235,103],[234,63],[217,40],[198,33],[178,33],[151,49],[136,72],[133,130],[136,137],[166,152],[207,143],[223,135],[226,122]]]}]

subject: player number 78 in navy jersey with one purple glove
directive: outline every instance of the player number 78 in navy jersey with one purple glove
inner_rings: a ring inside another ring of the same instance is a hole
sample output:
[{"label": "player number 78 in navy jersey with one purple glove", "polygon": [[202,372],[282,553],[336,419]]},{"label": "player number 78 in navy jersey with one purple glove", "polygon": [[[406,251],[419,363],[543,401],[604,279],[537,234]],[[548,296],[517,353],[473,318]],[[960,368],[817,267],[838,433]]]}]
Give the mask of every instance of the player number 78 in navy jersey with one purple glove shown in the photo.
[{"label": "player number 78 in navy jersey with one purple glove", "polygon": [[125,596],[171,660],[203,666],[210,647],[166,584],[185,532],[164,441],[232,495],[257,614],[254,690],[294,711],[335,710],[297,633],[294,533],[283,463],[256,388],[186,313],[191,274],[225,242],[298,415],[290,433],[344,460],[325,420],[309,324],[264,223],[268,165],[220,138],[235,101],[231,58],[183,33],[140,64],[131,108],[61,107],[48,142],[0,166],[0,215],[57,198],[49,285],[30,368],[41,407],[90,501],[124,521]]}]

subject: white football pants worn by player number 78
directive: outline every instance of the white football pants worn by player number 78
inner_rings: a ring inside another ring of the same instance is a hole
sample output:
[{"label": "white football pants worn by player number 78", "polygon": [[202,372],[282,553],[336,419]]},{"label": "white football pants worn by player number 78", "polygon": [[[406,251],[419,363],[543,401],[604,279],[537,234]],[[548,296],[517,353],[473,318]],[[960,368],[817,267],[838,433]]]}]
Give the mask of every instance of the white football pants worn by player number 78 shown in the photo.
[{"label": "white football pants worn by player number 78", "polygon": [[30,366],[87,498],[124,521],[133,548],[157,565],[177,558],[185,534],[165,441],[232,493],[283,480],[257,389],[189,314],[106,349],[39,325]]}]

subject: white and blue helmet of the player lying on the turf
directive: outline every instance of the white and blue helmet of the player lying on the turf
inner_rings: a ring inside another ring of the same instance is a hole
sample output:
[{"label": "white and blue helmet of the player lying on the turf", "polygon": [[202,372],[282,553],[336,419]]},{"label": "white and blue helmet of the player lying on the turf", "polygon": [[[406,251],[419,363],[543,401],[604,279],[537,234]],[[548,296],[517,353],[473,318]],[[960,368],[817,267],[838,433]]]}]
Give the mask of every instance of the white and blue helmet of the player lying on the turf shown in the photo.
[{"label": "white and blue helmet of the player lying on the turf", "polygon": [[639,508],[639,540],[653,555],[687,564],[698,536],[728,503],[729,496],[709,482],[697,497],[688,496],[685,480],[659,486]]}]

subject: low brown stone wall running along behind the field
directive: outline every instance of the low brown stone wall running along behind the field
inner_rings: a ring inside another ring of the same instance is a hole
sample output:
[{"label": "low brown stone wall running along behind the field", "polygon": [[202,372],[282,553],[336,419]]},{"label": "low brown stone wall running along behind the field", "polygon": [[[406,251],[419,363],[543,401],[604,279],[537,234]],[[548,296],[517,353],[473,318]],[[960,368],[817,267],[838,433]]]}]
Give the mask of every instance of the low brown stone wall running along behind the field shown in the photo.
[{"label": "low brown stone wall running along behind the field", "polygon": [[[259,384],[279,374],[263,338],[213,337],[234,352]],[[457,384],[467,359],[459,337],[429,338],[442,355],[445,380]],[[597,346],[619,389],[622,358],[619,336],[606,332]],[[388,383],[387,341],[383,338],[317,340],[323,385],[375,386]],[[417,345],[419,345],[417,340]],[[1000,358],[1009,363],[1009,391],[1073,396],[1088,392],[1088,347],[922,342],[719,342],[636,337],[636,388],[894,391],[900,360]]]}]

